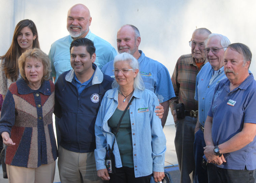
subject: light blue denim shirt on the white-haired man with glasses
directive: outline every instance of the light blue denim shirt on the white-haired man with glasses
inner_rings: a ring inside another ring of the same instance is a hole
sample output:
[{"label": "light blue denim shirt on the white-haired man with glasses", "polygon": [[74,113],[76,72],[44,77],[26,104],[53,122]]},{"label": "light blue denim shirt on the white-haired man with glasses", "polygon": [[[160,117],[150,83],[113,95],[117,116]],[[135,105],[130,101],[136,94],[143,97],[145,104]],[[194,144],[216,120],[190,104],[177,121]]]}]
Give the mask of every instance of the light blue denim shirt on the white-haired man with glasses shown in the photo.
[{"label": "light blue denim shirt on the white-haired man with glasses", "polygon": [[198,101],[198,120],[203,127],[212,104],[215,87],[224,78],[227,78],[224,66],[214,71],[209,62],[204,64],[196,76],[195,100]]}]

